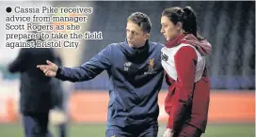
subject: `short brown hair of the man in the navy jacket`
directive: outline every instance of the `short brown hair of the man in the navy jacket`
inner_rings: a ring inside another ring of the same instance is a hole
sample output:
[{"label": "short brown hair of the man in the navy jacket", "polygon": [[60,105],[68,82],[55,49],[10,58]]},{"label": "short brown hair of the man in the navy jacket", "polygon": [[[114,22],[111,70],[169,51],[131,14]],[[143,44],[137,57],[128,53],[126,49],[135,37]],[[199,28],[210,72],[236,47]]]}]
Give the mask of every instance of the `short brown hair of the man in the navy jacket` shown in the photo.
[{"label": "short brown hair of the man in the navy jacket", "polygon": [[140,28],[141,28],[144,32],[147,32],[147,33],[150,33],[150,32],[151,32],[151,29],[152,29],[151,20],[150,20],[150,18],[149,18],[146,14],[144,14],[144,13],[141,13],[141,12],[132,13],[132,14],[128,17],[127,21],[136,23],[138,26],[140,26]]}]

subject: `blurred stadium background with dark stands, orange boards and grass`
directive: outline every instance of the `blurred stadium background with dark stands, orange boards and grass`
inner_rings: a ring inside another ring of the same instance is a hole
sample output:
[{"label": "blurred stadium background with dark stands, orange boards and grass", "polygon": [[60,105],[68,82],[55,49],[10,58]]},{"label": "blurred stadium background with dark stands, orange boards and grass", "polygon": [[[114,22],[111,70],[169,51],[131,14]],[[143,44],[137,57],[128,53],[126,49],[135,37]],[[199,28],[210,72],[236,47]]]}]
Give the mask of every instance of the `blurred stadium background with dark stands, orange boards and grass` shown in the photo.
[{"label": "blurred stadium background with dark stands, orange boards and grass", "polygon": [[[112,42],[125,38],[126,18],[136,11],[149,15],[152,21],[150,40],[165,43],[160,34],[160,17],[164,8],[190,6],[198,17],[199,30],[213,45],[207,57],[211,80],[209,126],[203,137],[252,137],[255,135],[255,2],[0,2],[4,17],[7,7],[52,6],[56,8],[93,8],[87,23],[80,32],[102,31],[101,40],[81,40],[78,49],[58,49],[64,65],[78,66],[88,61]],[[79,16],[77,14],[56,14]],[[43,15],[49,16],[49,15]],[[54,15],[55,16],[55,15]],[[5,18],[0,20],[1,32],[5,30]],[[68,23],[65,23],[68,24]],[[63,32],[71,33],[71,32]],[[18,114],[19,75],[10,75],[7,67],[20,49],[5,48],[5,33],[0,34],[0,133],[3,137],[23,136]],[[104,123],[108,101],[108,77],[105,72],[95,79],[82,83],[65,82],[69,114],[70,136],[104,136]],[[163,83],[159,95],[159,135],[163,134],[167,115],[163,101],[167,85]],[[33,102],[31,102],[33,103]],[[52,129],[56,133],[56,129]]]}]

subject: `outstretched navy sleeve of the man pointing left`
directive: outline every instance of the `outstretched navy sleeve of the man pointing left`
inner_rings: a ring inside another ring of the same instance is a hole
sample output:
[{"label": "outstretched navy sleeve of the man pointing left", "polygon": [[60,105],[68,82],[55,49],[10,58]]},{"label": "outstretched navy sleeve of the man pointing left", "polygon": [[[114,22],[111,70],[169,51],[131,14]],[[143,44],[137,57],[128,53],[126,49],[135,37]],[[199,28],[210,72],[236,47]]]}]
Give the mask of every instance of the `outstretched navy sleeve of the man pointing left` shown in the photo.
[{"label": "outstretched navy sleeve of the man pointing left", "polygon": [[108,45],[102,52],[94,55],[88,62],[80,67],[65,68],[59,67],[56,71],[56,78],[62,81],[82,82],[93,79],[104,69],[111,67],[111,46]]}]

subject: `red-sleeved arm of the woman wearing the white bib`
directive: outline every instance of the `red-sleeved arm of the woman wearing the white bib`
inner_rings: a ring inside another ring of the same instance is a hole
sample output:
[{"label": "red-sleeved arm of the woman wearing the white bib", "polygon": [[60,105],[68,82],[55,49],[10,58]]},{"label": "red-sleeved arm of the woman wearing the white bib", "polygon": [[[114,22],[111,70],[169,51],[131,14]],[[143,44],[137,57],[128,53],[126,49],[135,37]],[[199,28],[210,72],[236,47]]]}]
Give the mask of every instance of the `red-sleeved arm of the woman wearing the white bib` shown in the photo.
[{"label": "red-sleeved arm of the woman wearing the white bib", "polygon": [[168,129],[175,131],[181,128],[185,109],[192,102],[197,53],[192,47],[182,47],[175,54],[174,59],[178,75],[175,91],[177,97],[173,100],[172,114],[169,115],[172,116],[169,117],[172,120],[168,120]]}]

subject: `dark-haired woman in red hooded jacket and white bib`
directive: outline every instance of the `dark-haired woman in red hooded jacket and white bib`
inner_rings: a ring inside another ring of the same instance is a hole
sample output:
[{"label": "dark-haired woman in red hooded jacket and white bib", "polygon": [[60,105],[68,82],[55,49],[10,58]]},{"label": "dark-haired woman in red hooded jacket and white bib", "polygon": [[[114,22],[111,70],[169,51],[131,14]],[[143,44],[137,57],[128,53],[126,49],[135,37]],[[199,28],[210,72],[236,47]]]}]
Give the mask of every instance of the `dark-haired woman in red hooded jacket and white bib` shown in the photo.
[{"label": "dark-haired woman in red hooded jacket and white bib", "polygon": [[168,40],[161,51],[168,82],[164,137],[200,137],[207,125],[210,101],[205,55],[212,46],[198,34],[190,7],[165,9],[161,24],[161,33]]}]

